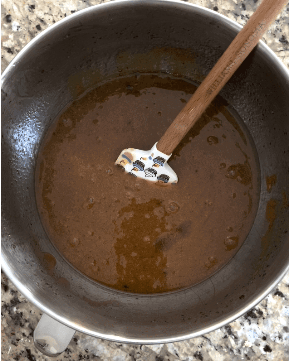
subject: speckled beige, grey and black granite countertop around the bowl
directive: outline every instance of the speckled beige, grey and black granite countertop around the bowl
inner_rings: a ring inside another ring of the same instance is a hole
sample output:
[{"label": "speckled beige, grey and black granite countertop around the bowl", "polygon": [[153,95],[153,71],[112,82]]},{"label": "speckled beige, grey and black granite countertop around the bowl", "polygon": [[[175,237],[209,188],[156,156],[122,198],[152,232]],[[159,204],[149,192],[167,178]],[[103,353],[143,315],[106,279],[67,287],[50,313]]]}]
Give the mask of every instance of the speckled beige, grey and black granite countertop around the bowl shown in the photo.
[{"label": "speckled beige, grey and black granite countertop around the bowl", "polygon": [[[70,14],[107,0],[1,0],[1,72],[37,34]],[[186,1],[186,0],[185,0]],[[260,0],[189,0],[244,25]],[[289,68],[289,4],[263,41]],[[262,302],[229,325],[183,342],[133,345],[76,332],[57,361],[287,361],[289,359],[289,275]],[[1,360],[52,360],[33,346],[41,312],[1,273]]]}]

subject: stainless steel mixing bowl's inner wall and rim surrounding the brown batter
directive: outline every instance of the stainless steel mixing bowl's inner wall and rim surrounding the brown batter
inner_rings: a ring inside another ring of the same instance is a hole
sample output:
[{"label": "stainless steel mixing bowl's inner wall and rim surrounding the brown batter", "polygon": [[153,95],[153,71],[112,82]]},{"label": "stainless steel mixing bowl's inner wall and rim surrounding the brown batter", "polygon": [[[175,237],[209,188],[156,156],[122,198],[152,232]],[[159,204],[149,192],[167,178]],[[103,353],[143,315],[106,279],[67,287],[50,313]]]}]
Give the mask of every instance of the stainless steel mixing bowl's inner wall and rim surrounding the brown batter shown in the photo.
[{"label": "stainless steel mixing bowl's inner wall and rim surrounding the brown batter", "polygon": [[[240,29],[216,12],[181,1],[112,1],[49,27],[4,71],[2,267],[43,312],[103,339],[175,342],[232,322],[288,271],[289,72],[263,43],[221,92],[255,143],[258,213],[241,249],[212,277],[159,295],[97,284],[61,257],[43,230],[35,203],[39,145],[66,104],[96,84],[136,71],[200,82]],[[269,193],[266,177],[273,174],[277,182]],[[48,253],[56,259],[53,270]]]}]

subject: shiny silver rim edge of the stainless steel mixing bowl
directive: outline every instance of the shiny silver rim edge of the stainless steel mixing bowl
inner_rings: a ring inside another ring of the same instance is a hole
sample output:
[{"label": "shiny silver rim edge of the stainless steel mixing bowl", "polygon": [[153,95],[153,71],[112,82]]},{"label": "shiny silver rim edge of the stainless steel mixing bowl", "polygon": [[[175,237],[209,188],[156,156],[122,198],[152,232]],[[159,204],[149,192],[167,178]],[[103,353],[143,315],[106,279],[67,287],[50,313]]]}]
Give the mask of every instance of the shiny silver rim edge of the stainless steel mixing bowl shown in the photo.
[{"label": "shiny silver rim edge of the stainless steel mixing bowl", "polygon": [[[95,11],[96,9],[102,9],[102,8],[111,8],[113,6],[122,6],[122,5],[130,5],[130,6],[138,6],[138,5],[161,5],[166,6],[170,5],[173,6],[173,4],[176,4],[179,6],[179,8],[187,8],[190,6],[191,8],[194,8],[197,10],[197,12],[200,12],[202,14],[210,14],[213,18],[215,18],[218,21],[221,21],[224,23],[224,25],[227,25],[230,27],[230,29],[234,29],[236,31],[240,31],[242,29],[242,26],[238,24],[237,22],[233,21],[232,19],[229,19],[228,17],[215,12],[214,10],[205,8],[203,6],[191,4],[191,3],[184,3],[181,0],[134,0],[133,2],[131,0],[117,0],[117,1],[111,1],[107,3],[97,4],[90,6],[88,8],[79,10],[76,13],[73,13],[71,16],[68,16],[61,21],[56,22],[55,24],[49,26],[47,29],[43,30],[40,34],[38,34],[34,39],[32,39],[25,47],[21,49],[21,51],[13,58],[13,60],[9,63],[7,68],[3,71],[1,75],[1,87],[3,84],[5,84],[6,81],[9,79],[10,73],[13,71],[13,68],[17,66],[17,64],[21,61],[23,56],[25,56],[25,53],[29,51],[30,49],[33,49],[37,44],[45,38],[46,35],[49,33],[60,29],[62,26],[64,26],[66,23],[71,22],[73,19],[76,19],[77,17],[82,17],[86,13],[90,13],[92,11]],[[285,81],[288,83],[289,87],[289,69],[286,68],[286,66],[280,61],[280,59],[276,56],[276,54],[262,41],[260,40],[259,44],[257,45],[260,52],[266,54],[269,62],[274,64],[277,68],[277,71],[280,73],[281,76],[285,78]],[[189,338],[197,337],[203,334],[206,334],[208,332],[214,331],[216,329],[219,329],[220,327],[223,327],[227,325],[230,322],[233,322],[243,314],[245,314],[248,310],[253,308],[256,304],[258,304],[260,301],[262,301],[268,294],[271,292],[271,290],[280,282],[282,278],[288,273],[289,271],[289,260],[288,265],[283,268],[283,270],[280,270],[279,275],[277,278],[275,278],[274,281],[269,283],[269,285],[266,287],[266,289],[258,295],[254,300],[251,300],[244,304],[241,308],[239,308],[236,312],[231,314],[231,316],[227,316],[223,319],[223,321],[215,322],[212,325],[198,331],[198,332],[187,332],[185,335],[182,336],[174,336],[169,338],[158,338],[158,339],[138,339],[138,338],[126,338],[116,335],[109,335],[109,334],[101,334],[99,332],[91,331],[86,329],[85,327],[82,327],[78,323],[74,323],[71,321],[68,321],[63,317],[61,314],[57,314],[57,312],[53,312],[51,309],[47,308],[45,305],[40,302],[35,295],[25,287],[25,284],[20,282],[20,280],[17,278],[16,274],[13,274],[10,271],[9,264],[7,262],[7,259],[5,257],[5,253],[3,252],[3,248],[1,249],[1,268],[7,275],[7,277],[10,279],[10,281],[14,284],[14,286],[22,293],[23,296],[26,297],[27,300],[31,301],[36,307],[38,307],[40,310],[42,310],[44,313],[49,315],[50,317],[56,319],[57,321],[63,323],[64,325],[71,327],[72,329],[78,330],[80,332],[83,332],[85,334],[89,334],[91,336],[102,338],[105,340],[113,340],[114,342],[122,342],[122,343],[134,343],[134,344],[160,344],[160,343],[171,343],[171,342],[179,342],[182,340],[186,340]]]}]

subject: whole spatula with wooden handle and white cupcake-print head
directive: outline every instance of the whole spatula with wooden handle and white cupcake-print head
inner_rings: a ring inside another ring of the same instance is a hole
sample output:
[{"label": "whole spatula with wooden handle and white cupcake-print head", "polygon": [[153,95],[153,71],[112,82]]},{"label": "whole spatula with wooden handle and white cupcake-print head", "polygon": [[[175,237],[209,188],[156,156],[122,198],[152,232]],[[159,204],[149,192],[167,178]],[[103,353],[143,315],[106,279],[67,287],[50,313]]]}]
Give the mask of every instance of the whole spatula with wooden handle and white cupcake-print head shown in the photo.
[{"label": "whole spatula with wooden handle and white cupcake-print head", "polygon": [[288,0],[263,0],[159,142],[149,151],[126,148],[115,164],[122,166],[127,173],[148,181],[177,183],[177,174],[167,163],[173,150],[258,44],[287,2]]}]

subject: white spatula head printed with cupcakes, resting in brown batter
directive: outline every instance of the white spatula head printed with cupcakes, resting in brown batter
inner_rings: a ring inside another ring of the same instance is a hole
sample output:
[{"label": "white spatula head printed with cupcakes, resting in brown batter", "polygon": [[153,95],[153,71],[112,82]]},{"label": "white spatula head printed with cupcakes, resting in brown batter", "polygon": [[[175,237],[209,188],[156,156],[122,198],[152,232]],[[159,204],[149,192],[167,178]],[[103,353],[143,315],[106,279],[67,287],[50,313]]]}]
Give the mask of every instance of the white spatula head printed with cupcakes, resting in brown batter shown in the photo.
[{"label": "white spatula head printed with cupcakes, resting in brown batter", "polygon": [[156,148],[156,143],[149,151],[141,149],[124,149],[115,164],[121,166],[134,177],[143,178],[154,183],[177,183],[178,177],[167,161],[171,157]]}]

